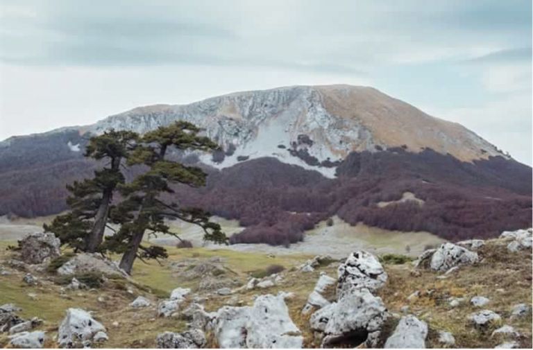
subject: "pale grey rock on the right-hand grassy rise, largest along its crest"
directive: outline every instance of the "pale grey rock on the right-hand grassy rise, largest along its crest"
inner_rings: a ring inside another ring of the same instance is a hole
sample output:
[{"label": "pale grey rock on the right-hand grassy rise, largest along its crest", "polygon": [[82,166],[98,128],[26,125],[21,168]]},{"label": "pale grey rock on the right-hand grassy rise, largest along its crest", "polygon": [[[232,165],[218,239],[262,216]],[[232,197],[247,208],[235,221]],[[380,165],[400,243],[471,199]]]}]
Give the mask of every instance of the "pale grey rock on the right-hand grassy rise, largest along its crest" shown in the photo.
[{"label": "pale grey rock on the right-hand grassy rise, largest along its crest", "polygon": [[443,243],[436,250],[426,250],[418,256],[415,266],[446,272],[455,266],[476,263],[478,259],[476,252],[471,252],[453,243]]}]

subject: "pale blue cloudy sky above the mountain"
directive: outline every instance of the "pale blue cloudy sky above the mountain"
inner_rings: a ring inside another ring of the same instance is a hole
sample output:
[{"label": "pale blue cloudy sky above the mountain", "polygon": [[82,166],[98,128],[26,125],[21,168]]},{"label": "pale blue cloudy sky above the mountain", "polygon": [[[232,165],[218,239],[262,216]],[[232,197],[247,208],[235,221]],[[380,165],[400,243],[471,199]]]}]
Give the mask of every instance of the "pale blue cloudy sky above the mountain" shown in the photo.
[{"label": "pale blue cloudy sky above the mountain", "polygon": [[139,105],[370,85],[532,163],[532,4],[0,2],[0,139]]}]

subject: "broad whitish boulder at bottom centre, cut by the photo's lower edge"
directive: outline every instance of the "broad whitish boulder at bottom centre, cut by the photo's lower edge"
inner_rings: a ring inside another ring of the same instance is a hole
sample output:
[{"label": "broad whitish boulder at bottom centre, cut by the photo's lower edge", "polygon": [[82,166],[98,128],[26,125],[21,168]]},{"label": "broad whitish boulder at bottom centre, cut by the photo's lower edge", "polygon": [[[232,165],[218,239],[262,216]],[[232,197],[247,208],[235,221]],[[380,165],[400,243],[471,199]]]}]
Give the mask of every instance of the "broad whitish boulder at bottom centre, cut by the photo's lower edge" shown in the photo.
[{"label": "broad whitish boulder at bottom centre, cut by the photo's lower edge", "polygon": [[261,295],[253,306],[224,306],[213,320],[221,348],[301,348],[303,337],[292,322],[285,293]]}]

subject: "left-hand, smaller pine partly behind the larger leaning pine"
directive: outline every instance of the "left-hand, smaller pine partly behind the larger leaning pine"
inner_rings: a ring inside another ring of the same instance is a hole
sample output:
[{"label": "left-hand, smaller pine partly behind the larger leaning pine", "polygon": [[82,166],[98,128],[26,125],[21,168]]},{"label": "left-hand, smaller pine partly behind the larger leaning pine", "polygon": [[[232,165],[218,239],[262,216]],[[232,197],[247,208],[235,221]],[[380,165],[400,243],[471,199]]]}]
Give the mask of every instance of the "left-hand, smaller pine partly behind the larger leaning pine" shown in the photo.
[{"label": "left-hand, smaller pine partly behind the larger leaning pine", "polygon": [[85,149],[85,157],[105,161],[104,168],[96,170],[92,179],[67,185],[70,192],[67,204],[71,210],[57,216],[51,225],[45,224],[44,230],[53,232],[62,243],[76,250],[99,250],[113,193],[125,181],[121,172],[123,160],[135,148],[137,139],[135,132],[115,130],[92,137]]}]

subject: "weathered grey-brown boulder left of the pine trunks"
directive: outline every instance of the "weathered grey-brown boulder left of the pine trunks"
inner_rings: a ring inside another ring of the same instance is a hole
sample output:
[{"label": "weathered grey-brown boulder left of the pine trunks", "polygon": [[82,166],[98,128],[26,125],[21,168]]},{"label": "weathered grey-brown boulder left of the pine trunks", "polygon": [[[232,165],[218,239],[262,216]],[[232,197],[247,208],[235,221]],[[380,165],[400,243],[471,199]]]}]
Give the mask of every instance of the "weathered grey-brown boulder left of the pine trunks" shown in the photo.
[{"label": "weathered grey-brown boulder left of the pine trunks", "polygon": [[52,233],[36,232],[19,240],[20,258],[24,263],[40,264],[60,256],[61,242]]}]

